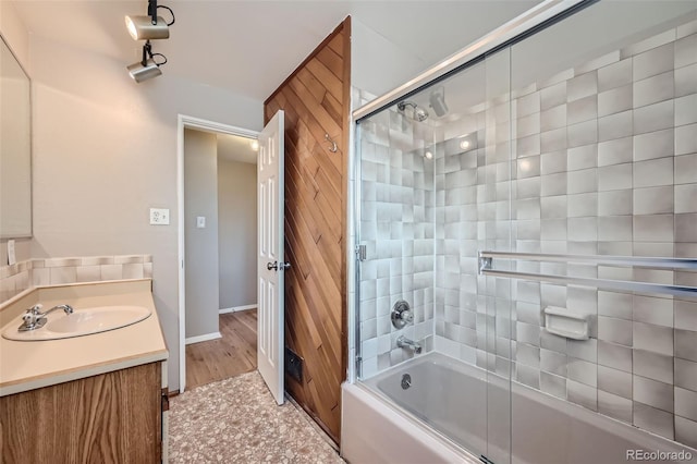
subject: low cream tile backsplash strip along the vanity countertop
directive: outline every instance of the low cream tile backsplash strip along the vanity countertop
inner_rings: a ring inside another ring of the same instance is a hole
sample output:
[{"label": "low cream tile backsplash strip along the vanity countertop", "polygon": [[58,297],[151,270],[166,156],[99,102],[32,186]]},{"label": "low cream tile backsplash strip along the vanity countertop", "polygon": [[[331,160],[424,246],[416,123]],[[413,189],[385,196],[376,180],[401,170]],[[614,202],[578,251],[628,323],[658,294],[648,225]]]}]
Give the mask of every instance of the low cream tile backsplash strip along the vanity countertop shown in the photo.
[{"label": "low cream tile backsplash strip along the vanity countertop", "polygon": [[0,268],[0,302],[36,285],[151,277],[151,255],[28,259]]}]

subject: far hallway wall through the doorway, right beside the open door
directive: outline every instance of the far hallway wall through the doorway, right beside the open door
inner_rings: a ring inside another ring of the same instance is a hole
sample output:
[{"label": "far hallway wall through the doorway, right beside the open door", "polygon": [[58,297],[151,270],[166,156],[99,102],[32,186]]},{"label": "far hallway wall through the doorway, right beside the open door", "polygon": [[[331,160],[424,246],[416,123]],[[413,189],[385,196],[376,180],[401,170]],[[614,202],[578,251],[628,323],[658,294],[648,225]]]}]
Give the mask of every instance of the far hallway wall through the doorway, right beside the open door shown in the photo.
[{"label": "far hallway wall through the doorway, right beside the open door", "polygon": [[257,166],[218,158],[220,308],[257,304]]}]

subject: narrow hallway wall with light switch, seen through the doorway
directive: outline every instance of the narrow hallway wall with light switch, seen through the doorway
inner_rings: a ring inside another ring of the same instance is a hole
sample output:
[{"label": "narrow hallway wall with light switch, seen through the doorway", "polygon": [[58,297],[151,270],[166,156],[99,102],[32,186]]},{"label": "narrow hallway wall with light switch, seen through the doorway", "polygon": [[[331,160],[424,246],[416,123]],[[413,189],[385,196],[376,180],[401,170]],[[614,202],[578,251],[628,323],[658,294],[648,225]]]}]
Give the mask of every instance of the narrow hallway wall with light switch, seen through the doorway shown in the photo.
[{"label": "narrow hallway wall with light switch, seen through the doorway", "polygon": [[[218,146],[216,135],[184,131],[186,338],[218,332]],[[205,227],[196,220],[205,218]]]}]

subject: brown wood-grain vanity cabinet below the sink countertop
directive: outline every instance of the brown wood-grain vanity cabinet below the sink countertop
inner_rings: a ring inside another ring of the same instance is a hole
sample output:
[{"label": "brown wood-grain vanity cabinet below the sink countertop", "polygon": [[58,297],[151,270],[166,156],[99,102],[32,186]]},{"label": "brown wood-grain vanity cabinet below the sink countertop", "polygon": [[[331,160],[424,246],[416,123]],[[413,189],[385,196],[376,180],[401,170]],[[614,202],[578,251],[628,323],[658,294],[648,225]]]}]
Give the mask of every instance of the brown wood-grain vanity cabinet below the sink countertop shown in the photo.
[{"label": "brown wood-grain vanity cabinet below the sink countertop", "polygon": [[149,363],[0,398],[2,463],[161,462],[161,368]]}]

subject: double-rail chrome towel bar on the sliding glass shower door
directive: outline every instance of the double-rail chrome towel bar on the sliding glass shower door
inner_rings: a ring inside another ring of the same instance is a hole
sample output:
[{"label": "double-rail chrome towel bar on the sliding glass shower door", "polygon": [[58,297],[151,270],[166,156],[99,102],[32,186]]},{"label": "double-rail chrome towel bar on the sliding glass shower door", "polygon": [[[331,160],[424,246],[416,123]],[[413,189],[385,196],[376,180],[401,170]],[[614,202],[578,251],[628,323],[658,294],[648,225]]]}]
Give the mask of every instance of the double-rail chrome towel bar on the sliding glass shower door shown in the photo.
[{"label": "double-rail chrome towel bar on the sliding glass shower door", "polygon": [[596,255],[550,255],[531,253],[479,252],[479,274],[504,277],[511,279],[533,280],[537,282],[566,283],[586,286],[597,286],[610,290],[624,290],[643,293],[660,293],[674,296],[697,297],[697,288],[686,285],[668,285],[662,283],[634,282],[612,279],[591,279],[573,276],[553,276],[533,272],[505,271],[493,269],[493,258],[518,259],[527,261],[550,262],[586,262],[610,266],[632,266],[661,269],[697,270],[696,258],[655,258],[641,256],[596,256]]}]

